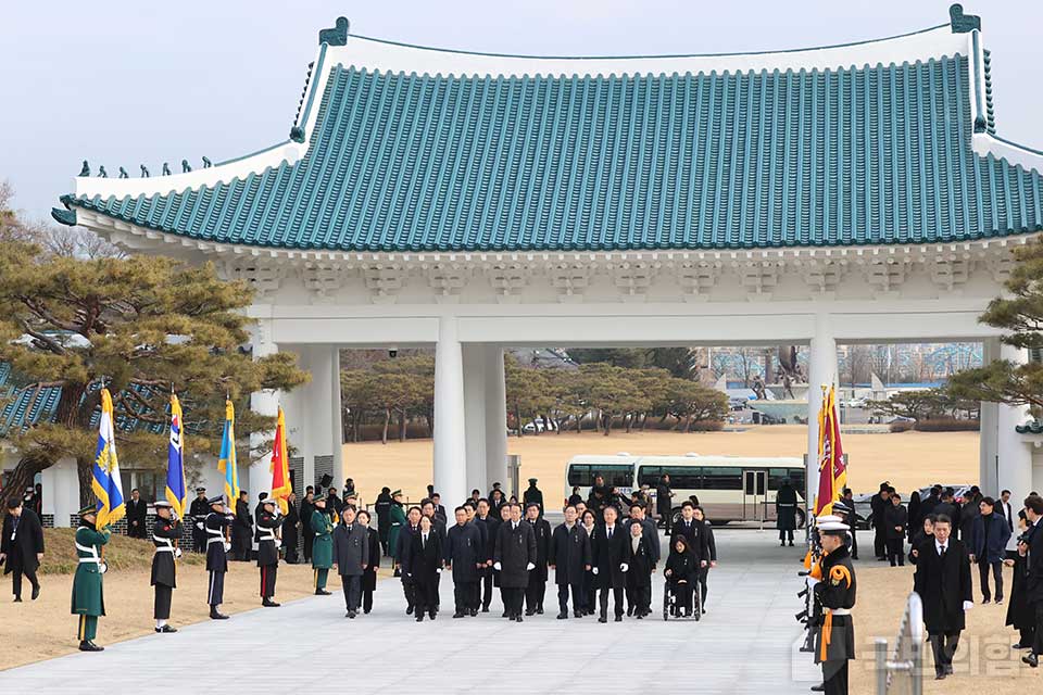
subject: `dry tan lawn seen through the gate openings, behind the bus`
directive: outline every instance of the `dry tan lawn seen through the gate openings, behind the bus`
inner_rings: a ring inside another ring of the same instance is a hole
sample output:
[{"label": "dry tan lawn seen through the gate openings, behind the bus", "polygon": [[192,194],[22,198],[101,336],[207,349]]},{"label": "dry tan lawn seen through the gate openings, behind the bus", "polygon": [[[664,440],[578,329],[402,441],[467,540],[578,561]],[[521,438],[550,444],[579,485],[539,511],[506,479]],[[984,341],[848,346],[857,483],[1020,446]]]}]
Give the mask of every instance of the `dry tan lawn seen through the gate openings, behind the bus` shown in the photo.
[{"label": "dry tan lawn seen through the gate openings, behind the bus", "polygon": [[[978,482],[978,432],[901,432],[895,434],[843,435],[851,462],[849,480],[856,492],[875,492],[881,480],[899,490],[932,482]],[[507,441],[511,454],[522,456],[522,479],[536,477],[548,501],[561,495],[565,463],[577,454],[659,454],[803,456],[807,428],[800,425],[752,427],[743,432],[553,432]],[[344,444],[345,475],[366,502],[373,502],[384,485],[401,488],[410,500],[419,500],[431,481],[430,440]],[[482,491],[486,492],[486,491]],[[443,501],[449,504],[452,500]]]}]

